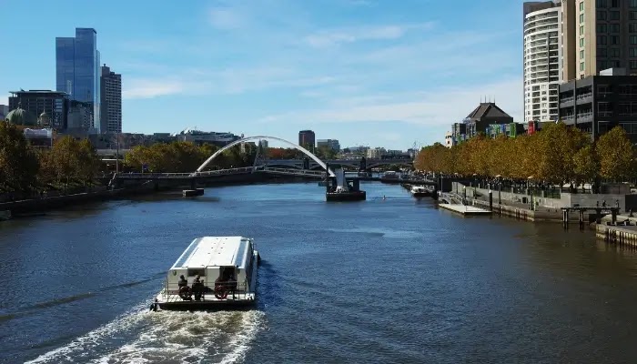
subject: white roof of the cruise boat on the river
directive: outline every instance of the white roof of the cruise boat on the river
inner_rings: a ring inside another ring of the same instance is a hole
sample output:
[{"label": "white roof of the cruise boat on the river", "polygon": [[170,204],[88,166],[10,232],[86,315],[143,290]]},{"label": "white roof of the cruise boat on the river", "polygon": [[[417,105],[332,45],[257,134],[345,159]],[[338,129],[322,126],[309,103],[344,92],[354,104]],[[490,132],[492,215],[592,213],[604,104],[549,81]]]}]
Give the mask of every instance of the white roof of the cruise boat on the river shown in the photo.
[{"label": "white roof of the cruise boat on the river", "polygon": [[250,238],[196,238],[181,254],[171,269],[237,266],[243,264]]}]

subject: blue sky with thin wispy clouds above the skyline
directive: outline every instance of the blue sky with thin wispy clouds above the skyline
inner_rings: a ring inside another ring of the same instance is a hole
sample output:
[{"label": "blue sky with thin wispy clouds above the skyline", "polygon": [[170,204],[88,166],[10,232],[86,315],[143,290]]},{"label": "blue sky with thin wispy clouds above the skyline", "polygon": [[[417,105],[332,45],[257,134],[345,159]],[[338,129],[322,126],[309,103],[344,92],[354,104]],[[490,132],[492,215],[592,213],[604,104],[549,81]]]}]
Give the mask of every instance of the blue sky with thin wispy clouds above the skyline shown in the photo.
[{"label": "blue sky with thin wispy clouds above the skyline", "polygon": [[442,141],[481,96],[521,121],[519,0],[0,0],[8,91],[55,89],[56,36],[94,27],[125,132],[186,127],[341,146]]}]

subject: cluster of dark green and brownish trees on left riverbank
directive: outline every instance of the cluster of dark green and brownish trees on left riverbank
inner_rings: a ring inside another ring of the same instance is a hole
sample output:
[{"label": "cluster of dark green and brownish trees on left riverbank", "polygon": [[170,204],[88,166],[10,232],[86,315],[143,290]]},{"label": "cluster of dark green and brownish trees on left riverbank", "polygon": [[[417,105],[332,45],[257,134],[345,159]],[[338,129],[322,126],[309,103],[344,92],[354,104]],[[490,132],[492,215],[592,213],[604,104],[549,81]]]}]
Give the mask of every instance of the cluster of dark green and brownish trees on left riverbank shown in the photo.
[{"label": "cluster of dark green and brownish trees on left riverbank", "polygon": [[22,128],[0,122],[0,193],[86,186],[98,170],[99,158],[88,140],[64,136],[50,148],[31,147]]}]

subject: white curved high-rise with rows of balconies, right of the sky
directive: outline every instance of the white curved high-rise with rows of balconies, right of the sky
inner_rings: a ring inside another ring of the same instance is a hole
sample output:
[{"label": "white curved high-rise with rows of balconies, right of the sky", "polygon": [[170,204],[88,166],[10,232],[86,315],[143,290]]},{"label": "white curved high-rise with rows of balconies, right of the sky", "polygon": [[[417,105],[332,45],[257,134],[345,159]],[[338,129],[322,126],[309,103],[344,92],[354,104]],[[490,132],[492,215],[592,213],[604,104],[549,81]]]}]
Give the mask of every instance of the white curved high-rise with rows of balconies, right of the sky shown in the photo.
[{"label": "white curved high-rise with rows of balconies, right of the sky", "polygon": [[524,120],[557,121],[561,71],[560,3],[527,2],[524,13]]}]

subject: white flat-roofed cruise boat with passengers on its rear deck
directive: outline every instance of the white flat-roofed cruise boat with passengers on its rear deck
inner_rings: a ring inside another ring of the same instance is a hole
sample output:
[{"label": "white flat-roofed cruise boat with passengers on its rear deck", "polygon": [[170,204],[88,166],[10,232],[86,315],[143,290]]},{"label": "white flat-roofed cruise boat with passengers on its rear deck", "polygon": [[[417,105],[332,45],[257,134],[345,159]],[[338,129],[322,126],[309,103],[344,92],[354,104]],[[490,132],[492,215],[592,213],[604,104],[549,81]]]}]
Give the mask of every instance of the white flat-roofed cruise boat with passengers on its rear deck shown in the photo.
[{"label": "white flat-roofed cruise boat with passengers on its rear deck", "polygon": [[168,270],[152,310],[245,307],[257,298],[260,258],[251,238],[194,239]]}]

